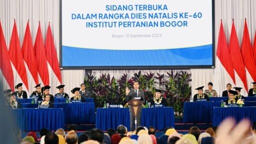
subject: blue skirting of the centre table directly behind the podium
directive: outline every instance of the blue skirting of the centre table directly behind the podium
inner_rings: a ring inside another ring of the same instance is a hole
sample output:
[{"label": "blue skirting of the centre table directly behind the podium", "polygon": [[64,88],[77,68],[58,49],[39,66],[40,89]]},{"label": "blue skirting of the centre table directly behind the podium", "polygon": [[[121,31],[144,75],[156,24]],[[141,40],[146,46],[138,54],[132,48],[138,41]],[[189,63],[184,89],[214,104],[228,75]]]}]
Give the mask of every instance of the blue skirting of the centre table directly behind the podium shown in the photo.
[{"label": "blue skirting of the centre table directly behind the podium", "polygon": [[[114,128],[123,124],[130,130],[129,108],[97,108],[96,127],[101,130]],[[142,108],[141,125],[154,126],[156,129],[174,127],[174,112],[172,107]]]}]

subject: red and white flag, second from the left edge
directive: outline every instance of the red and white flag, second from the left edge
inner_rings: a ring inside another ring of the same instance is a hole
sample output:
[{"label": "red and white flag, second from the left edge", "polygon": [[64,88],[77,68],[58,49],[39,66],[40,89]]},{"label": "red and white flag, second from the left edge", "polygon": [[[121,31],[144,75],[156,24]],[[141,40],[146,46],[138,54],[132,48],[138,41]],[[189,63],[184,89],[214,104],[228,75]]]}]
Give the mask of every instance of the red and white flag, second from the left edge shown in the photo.
[{"label": "red and white flag, second from the left edge", "polygon": [[14,85],[18,83],[23,83],[23,90],[28,92],[28,82],[26,76],[26,68],[24,64],[23,55],[21,52],[18,32],[16,27],[16,22],[14,20],[14,25],[12,28],[11,38],[10,38],[10,45],[9,45],[9,56],[12,62],[12,70],[14,76]]}]

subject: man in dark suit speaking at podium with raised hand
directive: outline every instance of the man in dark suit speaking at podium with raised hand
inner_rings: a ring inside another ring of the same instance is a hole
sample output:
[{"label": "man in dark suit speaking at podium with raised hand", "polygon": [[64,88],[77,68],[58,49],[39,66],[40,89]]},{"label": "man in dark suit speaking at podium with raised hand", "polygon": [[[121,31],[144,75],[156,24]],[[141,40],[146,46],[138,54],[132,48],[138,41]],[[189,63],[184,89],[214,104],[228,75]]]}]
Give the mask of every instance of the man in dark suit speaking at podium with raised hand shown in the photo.
[{"label": "man in dark suit speaking at podium with raised hand", "polygon": [[[145,101],[144,92],[142,90],[138,89],[138,87],[139,87],[138,81],[134,81],[133,89],[130,90],[128,87],[126,87],[125,100],[127,102],[129,102],[130,100],[133,100],[133,99],[139,99],[143,102]],[[140,125],[140,117],[141,117],[141,108],[138,108],[137,110],[138,111],[137,111],[136,119],[137,119],[137,125],[139,126]],[[133,131],[134,130],[133,123],[134,123],[135,117],[132,113],[131,106],[129,108],[129,112],[130,112],[130,130]]]}]

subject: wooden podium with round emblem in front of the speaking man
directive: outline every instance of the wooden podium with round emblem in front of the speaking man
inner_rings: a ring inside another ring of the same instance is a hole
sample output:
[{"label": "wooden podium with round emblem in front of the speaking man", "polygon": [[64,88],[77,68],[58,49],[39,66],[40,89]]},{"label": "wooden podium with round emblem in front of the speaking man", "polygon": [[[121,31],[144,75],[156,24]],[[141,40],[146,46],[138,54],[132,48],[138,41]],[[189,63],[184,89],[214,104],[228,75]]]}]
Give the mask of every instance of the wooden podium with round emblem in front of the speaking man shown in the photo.
[{"label": "wooden podium with round emblem in front of the speaking man", "polygon": [[[130,109],[132,111],[132,115],[135,118],[135,129],[137,128],[137,113],[138,111],[141,112],[141,105],[142,105],[143,101],[141,101],[140,99],[131,99],[130,101],[128,101],[128,104],[130,105]],[[133,124],[133,123],[130,123]]]}]

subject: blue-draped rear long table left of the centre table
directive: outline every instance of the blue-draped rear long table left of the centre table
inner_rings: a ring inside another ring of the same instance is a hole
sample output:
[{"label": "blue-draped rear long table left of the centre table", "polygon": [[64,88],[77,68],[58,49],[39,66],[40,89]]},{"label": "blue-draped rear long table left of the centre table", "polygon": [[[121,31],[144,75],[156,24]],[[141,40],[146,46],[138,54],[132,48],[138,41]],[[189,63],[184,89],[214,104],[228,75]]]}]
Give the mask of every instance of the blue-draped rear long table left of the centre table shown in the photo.
[{"label": "blue-draped rear long table left of the centre table", "polygon": [[[23,108],[36,108],[38,104],[22,103]],[[62,108],[64,124],[95,124],[95,105],[87,103],[54,103],[54,108]]]}]

